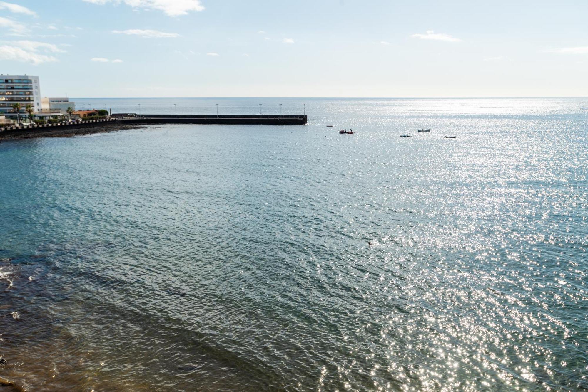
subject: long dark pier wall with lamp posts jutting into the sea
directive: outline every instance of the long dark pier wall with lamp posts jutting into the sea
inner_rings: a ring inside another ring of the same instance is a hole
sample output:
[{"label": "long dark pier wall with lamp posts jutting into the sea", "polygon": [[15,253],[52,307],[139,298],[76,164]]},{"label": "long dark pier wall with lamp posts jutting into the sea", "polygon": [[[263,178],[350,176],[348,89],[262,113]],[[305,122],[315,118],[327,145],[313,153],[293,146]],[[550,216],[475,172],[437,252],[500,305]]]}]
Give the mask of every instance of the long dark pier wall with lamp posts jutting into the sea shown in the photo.
[{"label": "long dark pier wall with lamp posts jutting into the sea", "polygon": [[255,125],[304,125],[306,114],[136,114],[115,113],[115,119],[131,124],[255,124]]}]

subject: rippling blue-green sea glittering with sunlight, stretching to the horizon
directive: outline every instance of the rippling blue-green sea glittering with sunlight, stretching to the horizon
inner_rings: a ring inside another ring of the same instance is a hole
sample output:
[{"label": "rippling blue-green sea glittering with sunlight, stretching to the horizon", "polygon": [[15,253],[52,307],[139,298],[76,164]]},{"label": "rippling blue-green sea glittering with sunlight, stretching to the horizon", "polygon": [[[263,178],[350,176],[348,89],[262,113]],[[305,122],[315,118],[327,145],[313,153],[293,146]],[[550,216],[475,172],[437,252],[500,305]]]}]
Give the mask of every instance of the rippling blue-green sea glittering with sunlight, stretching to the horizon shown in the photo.
[{"label": "rippling blue-green sea glittering with sunlight, stretching to the horizon", "polygon": [[588,99],[75,101],[309,123],[0,143],[0,377],[588,388]]}]

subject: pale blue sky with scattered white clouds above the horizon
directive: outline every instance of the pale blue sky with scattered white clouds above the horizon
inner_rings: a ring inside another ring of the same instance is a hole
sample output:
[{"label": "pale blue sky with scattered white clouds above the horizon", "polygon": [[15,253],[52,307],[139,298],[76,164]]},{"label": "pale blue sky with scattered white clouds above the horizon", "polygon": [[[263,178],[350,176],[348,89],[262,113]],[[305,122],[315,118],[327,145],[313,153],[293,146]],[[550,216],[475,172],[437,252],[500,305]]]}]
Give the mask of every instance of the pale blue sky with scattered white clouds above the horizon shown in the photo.
[{"label": "pale blue sky with scattered white clouds above the horizon", "polygon": [[0,73],[69,97],[586,97],[588,1],[0,1]]}]

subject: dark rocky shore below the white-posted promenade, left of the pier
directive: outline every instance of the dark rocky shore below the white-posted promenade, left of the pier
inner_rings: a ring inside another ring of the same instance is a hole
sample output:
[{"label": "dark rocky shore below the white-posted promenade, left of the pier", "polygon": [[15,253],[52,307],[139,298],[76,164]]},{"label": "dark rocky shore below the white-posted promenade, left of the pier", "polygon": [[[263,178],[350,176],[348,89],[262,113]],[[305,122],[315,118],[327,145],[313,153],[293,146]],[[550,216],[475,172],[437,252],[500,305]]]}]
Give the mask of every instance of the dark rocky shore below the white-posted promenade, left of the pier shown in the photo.
[{"label": "dark rocky shore below the white-posted promenade, left of the pier", "polygon": [[142,128],[142,126],[138,124],[128,124],[118,119],[29,125],[22,127],[8,127],[4,130],[0,130],[0,141],[38,137],[72,137],[91,133],[113,132],[137,128]]}]

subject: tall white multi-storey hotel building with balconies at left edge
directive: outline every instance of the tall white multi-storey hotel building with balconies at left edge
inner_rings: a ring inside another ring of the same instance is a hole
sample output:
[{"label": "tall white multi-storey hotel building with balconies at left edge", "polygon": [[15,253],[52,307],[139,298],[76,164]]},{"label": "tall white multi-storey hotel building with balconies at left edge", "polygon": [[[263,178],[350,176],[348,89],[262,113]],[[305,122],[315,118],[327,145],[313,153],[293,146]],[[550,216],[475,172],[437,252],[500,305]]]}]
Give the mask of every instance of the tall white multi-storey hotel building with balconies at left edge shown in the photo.
[{"label": "tall white multi-storey hotel building with balconies at left edge", "polygon": [[12,104],[20,103],[21,113],[31,104],[35,113],[41,111],[41,87],[38,76],[0,75],[0,115],[14,113]]}]

